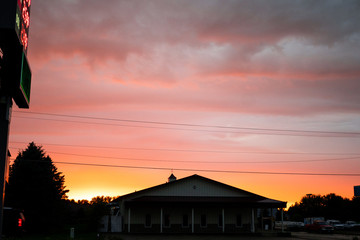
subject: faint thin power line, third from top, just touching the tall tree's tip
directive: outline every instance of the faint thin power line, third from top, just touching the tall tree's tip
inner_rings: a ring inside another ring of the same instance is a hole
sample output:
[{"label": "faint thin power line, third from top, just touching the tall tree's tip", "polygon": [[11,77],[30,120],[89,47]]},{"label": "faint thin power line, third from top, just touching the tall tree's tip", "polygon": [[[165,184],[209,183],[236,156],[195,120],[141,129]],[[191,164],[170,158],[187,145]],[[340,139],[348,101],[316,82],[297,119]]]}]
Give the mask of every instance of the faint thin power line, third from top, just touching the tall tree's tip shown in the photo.
[{"label": "faint thin power line, third from top, just touching the tall tree's tip", "polygon": [[[11,141],[11,144],[28,144],[28,142]],[[115,150],[135,150],[135,151],[165,151],[165,152],[190,152],[190,153],[224,153],[224,154],[266,154],[266,155],[336,155],[336,156],[360,156],[360,153],[325,153],[325,152],[260,152],[260,151],[229,151],[229,150],[203,150],[203,149],[173,149],[173,148],[134,148],[134,147],[111,147],[96,145],[75,145],[75,144],[58,144],[42,143],[48,146],[75,147],[75,148],[98,148],[98,149],[115,149]],[[13,149],[15,149],[13,147]]]}]

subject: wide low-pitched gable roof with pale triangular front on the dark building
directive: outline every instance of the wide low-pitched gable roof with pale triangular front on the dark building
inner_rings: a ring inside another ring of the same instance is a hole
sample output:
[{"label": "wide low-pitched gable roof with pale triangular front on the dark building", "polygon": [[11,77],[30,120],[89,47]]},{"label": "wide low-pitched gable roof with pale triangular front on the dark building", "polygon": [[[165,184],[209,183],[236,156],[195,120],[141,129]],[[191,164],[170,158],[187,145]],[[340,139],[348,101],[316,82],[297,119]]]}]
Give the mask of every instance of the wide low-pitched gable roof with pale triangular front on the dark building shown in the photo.
[{"label": "wide low-pitched gable roof with pale triangular front on the dark building", "polygon": [[[196,184],[206,190],[193,191]],[[179,188],[183,187],[181,190]],[[184,188],[185,187],[185,188]],[[191,189],[192,188],[192,189]],[[185,190],[184,190],[185,189]],[[210,190],[209,190],[210,189]],[[181,192],[181,194],[180,194]],[[286,206],[269,199],[197,174],[120,196],[113,202],[247,202]]]}]

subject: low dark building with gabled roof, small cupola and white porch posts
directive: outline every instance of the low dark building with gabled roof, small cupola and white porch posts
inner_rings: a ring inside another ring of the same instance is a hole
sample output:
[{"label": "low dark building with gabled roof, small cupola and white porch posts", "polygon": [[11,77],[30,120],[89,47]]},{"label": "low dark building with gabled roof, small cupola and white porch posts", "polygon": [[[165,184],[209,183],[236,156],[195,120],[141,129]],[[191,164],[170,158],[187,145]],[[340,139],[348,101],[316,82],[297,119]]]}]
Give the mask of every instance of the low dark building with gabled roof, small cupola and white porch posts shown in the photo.
[{"label": "low dark building with gabled roof, small cupola and white porch posts", "polygon": [[272,216],[258,213],[286,207],[286,202],[199,175],[177,180],[173,174],[167,183],[123,195],[113,204],[113,215],[121,219],[117,229],[125,233],[255,232],[273,226]]}]

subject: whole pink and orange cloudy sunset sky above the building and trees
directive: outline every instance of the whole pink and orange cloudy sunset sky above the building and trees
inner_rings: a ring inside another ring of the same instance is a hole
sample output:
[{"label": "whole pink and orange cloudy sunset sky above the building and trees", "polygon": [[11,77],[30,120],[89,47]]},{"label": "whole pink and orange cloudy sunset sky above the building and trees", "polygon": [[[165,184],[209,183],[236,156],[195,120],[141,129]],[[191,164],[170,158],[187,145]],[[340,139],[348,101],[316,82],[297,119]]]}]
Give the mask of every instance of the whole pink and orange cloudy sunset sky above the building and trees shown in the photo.
[{"label": "whole pink and orange cloudy sunset sky above the building and trees", "polygon": [[76,200],[172,172],[289,205],[352,198],[359,12],[356,0],[33,0],[12,156],[42,145]]}]

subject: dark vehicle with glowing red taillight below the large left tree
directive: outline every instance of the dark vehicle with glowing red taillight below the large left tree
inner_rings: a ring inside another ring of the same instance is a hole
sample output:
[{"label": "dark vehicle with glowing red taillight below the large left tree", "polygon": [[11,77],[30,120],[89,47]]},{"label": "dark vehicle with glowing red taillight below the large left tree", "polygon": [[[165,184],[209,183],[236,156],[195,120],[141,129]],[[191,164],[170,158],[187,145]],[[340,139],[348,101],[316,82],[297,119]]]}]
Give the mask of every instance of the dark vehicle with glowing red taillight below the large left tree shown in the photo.
[{"label": "dark vehicle with glowing red taillight below the large left tree", "polygon": [[4,207],[3,234],[5,236],[19,235],[24,232],[25,216],[22,210]]}]

